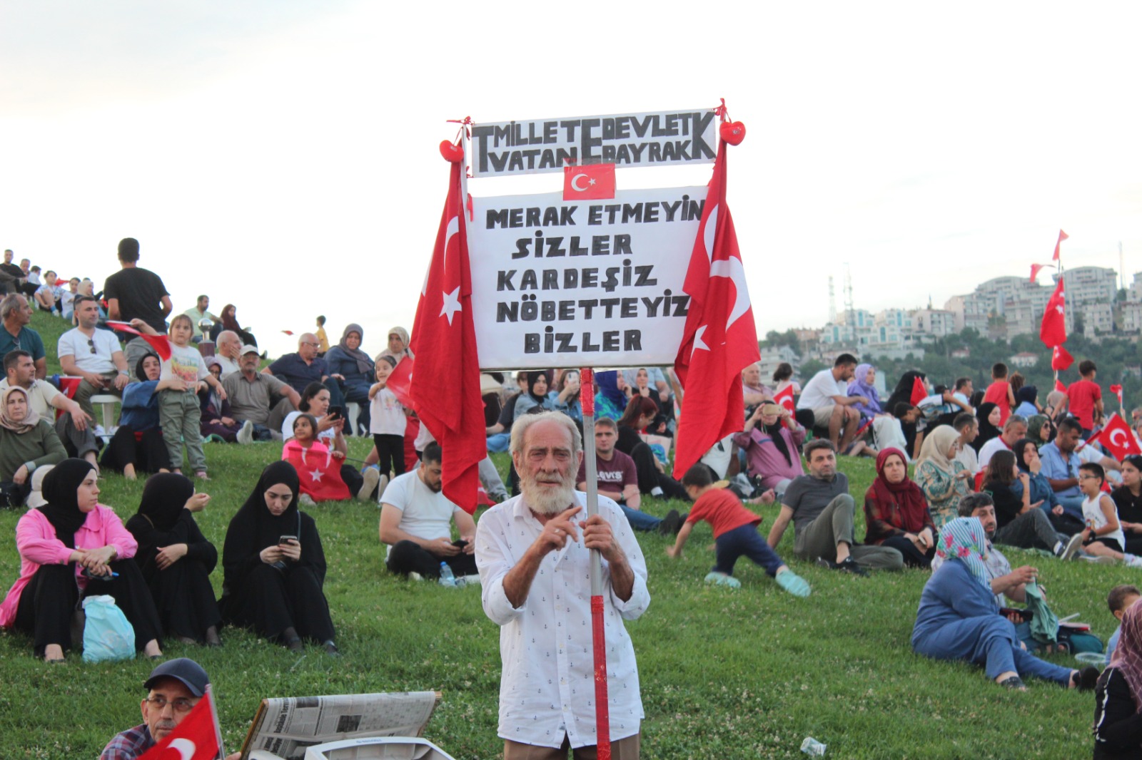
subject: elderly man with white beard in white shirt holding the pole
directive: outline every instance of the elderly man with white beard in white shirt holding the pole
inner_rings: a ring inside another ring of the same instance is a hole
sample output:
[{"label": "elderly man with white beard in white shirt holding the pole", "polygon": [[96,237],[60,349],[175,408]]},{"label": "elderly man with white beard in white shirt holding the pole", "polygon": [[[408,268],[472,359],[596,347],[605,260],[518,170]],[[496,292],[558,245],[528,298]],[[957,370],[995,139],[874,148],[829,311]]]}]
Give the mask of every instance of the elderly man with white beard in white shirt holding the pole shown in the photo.
[{"label": "elderly man with white beard in white shirt holding the pole", "polygon": [[643,708],[622,620],[650,605],[642,550],[610,499],[600,496],[598,514],[584,519],[586,494],[574,490],[582,440],[571,418],[521,417],[510,451],[521,493],[476,526],[484,613],[500,625],[504,760],[596,757],[592,549],[602,556],[611,757],[637,760]]}]

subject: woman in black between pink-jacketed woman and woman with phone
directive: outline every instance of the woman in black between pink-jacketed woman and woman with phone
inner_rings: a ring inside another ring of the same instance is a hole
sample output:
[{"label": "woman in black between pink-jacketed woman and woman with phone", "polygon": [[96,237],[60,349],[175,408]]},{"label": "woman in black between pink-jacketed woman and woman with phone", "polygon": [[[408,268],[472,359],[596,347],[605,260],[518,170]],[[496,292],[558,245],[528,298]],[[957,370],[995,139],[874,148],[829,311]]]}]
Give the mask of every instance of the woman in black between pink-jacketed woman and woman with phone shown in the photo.
[{"label": "woman in black between pink-jacketed woman and woman with phone", "polygon": [[207,494],[194,493],[194,484],[184,475],[152,475],[127,529],[138,541],[135,561],[151,588],[167,633],[183,644],[204,640],[220,646],[222,615],[210,585],[218,550],[202,535],[192,515],[209,501]]}]

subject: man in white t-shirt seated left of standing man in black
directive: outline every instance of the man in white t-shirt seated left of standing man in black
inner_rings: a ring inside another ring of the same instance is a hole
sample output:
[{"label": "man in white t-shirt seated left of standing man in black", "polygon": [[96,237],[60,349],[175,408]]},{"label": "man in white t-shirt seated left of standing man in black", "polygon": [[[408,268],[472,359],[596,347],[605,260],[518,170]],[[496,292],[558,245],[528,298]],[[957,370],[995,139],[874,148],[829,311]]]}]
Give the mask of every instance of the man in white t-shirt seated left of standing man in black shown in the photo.
[{"label": "man in white t-shirt seated left of standing man in black", "polygon": [[79,326],[59,335],[59,367],[65,374],[83,378],[75,391],[75,402],[94,415],[91,396],[122,396],[131,377],[115,333],[95,326],[99,323],[99,302],[90,296],[79,296],[74,312]]}]

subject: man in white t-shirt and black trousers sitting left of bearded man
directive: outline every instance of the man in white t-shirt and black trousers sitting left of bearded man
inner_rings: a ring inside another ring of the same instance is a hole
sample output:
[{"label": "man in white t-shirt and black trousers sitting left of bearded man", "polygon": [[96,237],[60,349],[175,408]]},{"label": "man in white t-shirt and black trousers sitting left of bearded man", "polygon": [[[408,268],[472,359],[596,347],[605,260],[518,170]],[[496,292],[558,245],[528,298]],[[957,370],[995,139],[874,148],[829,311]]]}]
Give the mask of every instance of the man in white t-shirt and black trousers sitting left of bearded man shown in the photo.
[{"label": "man in white t-shirt and black trousers sitting left of bearded man", "polygon": [[[476,575],[476,523],[441,492],[441,459],[440,444],[428,444],[420,467],[393,478],[380,496],[380,541],[388,544],[391,573],[435,579],[445,563],[456,577]],[[452,520],[459,541],[452,541]]]}]

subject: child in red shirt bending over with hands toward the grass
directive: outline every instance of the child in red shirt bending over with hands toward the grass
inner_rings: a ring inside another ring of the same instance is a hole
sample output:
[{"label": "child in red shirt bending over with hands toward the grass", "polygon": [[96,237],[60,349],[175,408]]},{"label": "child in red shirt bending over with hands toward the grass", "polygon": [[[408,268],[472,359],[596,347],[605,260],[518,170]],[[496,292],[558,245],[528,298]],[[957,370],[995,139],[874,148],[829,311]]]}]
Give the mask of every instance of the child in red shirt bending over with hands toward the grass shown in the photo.
[{"label": "child in red shirt bending over with hands toward the grass", "polygon": [[764,567],[766,574],[789,593],[796,597],[809,596],[809,583],[789,569],[757,533],[762,518],[746,509],[733,492],[721,487],[722,484],[715,486],[708,467],[700,462],[691,467],[682,476],[682,485],[686,495],[694,500],[694,506],[678,531],[674,545],[667,547],[667,555],[682,557],[682,548],[686,544],[694,523],[706,520],[714,527],[714,543],[717,547],[717,560],[714,569],[706,576],[707,583],[740,588],[741,581],[733,577],[733,566],[745,555]]}]

